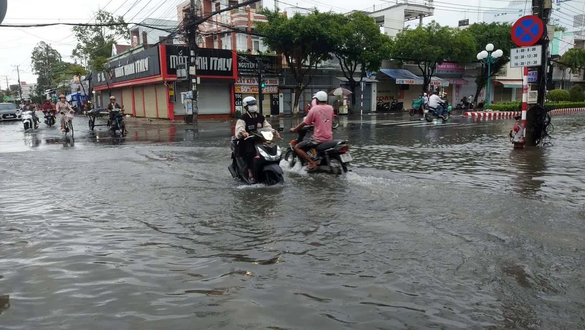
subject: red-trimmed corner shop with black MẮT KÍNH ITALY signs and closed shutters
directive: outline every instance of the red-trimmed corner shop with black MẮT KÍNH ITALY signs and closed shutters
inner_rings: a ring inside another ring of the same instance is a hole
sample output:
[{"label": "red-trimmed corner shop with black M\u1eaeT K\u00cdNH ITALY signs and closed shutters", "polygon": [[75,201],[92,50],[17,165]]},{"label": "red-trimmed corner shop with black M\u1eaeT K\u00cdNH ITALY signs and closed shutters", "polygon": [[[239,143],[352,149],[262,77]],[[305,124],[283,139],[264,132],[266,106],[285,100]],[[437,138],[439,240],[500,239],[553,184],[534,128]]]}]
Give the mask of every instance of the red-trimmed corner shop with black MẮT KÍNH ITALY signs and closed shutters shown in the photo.
[{"label": "red-trimmed corner shop with black M\u1eaeT K\u00cdNH ITALY signs and closed shutters", "polygon": [[[181,92],[187,81],[177,81],[177,64],[186,63],[185,46],[159,45],[109,63],[109,73],[94,72],[93,84],[99,107],[110,94],[135,117],[182,119],[185,114]],[[235,54],[223,49],[199,49],[197,56],[199,117],[231,117]]]}]

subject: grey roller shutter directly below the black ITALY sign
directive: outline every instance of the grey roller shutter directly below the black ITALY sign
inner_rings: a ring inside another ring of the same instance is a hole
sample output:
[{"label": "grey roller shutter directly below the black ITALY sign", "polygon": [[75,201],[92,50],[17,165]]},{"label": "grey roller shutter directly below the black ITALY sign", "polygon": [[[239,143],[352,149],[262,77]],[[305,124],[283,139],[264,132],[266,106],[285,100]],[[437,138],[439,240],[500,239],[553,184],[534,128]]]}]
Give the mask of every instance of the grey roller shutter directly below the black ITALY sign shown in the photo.
[{"label": "grey roller shutter directly below the black ITALY sign", "polygon": [[197,91],[199,92],[198,114],[232,113],[229,84],[200,84],[197,85]]}]

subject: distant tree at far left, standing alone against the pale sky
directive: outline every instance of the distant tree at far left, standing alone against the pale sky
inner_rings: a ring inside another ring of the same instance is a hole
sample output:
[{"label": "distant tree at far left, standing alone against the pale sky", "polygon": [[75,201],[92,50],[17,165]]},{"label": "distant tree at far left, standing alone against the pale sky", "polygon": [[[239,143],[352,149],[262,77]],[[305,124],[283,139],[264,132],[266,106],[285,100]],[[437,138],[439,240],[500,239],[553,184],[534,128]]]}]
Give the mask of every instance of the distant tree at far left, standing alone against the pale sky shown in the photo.
[{"label": "distant tree at far left, standing alone against the pale sky", "polygon": [[44,91],[54,87],[54,80],[61,74],[63,61],[61,54],[46,42],[37,43],[30,55],[33,73],[39,76],[37,79],[36,94],[42,95]]}]

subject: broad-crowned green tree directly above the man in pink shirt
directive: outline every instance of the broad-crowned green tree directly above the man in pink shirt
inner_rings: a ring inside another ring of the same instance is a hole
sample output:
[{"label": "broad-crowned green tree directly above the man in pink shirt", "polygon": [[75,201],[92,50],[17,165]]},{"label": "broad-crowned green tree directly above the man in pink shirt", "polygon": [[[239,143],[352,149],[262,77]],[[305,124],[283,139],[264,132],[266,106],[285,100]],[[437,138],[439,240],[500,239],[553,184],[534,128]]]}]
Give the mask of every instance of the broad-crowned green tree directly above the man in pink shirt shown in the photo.
[{"label": "broad-crowned green tree directly above the man in pink shirt", "polygon": [[[286,15],[263,9],[267,22],[256,22],[256,32],[264,35],[263,43],[287,61],[295,84],[292,113],[298,114],[298,102],[305,87],[311,83],[319,62],[330,59],[340,39],[335,13],[314,11],[309,15]],[[307,79],[305,79],[307,77]]]}]

